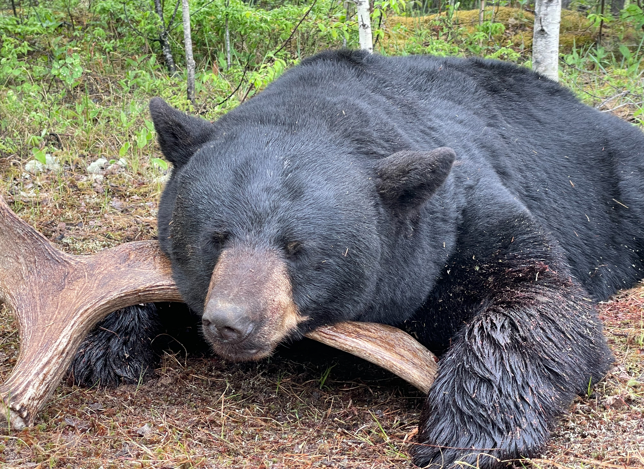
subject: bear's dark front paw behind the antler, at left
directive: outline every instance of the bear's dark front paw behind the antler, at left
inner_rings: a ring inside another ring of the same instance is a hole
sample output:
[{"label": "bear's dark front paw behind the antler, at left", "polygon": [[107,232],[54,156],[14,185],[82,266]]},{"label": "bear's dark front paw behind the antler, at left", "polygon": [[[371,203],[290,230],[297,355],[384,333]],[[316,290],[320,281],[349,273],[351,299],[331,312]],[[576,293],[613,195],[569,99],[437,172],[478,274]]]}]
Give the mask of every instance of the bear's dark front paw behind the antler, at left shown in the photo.
[{"label": "bear's dark front paw behind the antler, at left", "polygon": [[157,329],[153,303],[112,312],[82,341],[67,372],[68,382],[116,387],[145,381],[158,361],[151,347]]}]

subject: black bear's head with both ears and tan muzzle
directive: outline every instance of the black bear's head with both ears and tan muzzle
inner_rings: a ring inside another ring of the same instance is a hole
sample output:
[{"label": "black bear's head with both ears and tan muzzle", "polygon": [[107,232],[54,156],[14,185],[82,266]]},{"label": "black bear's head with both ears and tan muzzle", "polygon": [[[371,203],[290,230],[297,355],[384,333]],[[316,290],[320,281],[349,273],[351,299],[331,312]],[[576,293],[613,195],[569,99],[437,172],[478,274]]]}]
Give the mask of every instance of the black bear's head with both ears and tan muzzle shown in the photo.
[{"label": "black bear's head with both ears and tan muzzle", "polygon": [[260,359],[285,338],[354,320],[386,281],[395,226],[444,182],[448,148],[359,164],[323,132],[216,124],[150,102],[173,164],[158,237],[215,352]]}]

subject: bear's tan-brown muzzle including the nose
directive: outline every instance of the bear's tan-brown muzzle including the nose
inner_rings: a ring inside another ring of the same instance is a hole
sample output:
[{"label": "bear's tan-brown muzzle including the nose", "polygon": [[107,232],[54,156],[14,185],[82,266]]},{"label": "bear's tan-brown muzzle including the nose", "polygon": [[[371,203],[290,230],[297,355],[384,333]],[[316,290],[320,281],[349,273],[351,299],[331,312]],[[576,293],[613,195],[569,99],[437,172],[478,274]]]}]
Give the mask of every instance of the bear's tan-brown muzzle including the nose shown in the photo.
[{"label": "bear's tan-brown muzzle including the nose", "polygon": [[278,251],[247,245],[222,251],[202,316],[204,336],[217,354],[233,361],[261,359],[305,319]]}]

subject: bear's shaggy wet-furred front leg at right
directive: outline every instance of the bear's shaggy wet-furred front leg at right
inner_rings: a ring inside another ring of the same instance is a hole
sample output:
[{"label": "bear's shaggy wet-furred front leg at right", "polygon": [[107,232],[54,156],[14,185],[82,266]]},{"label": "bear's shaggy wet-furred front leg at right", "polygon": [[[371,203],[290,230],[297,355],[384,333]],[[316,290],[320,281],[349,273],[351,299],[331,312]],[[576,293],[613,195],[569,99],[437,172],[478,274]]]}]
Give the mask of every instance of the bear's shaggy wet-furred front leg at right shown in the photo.
[{"label": "bear's shaggy wet-furred front leg at right", "polygon": [[535,277],[493,292],[453,337],[422,410],[418,466],[497,468],[538,455],[575,394],[607,372],[588,294],[552,270],[514,280]]}]

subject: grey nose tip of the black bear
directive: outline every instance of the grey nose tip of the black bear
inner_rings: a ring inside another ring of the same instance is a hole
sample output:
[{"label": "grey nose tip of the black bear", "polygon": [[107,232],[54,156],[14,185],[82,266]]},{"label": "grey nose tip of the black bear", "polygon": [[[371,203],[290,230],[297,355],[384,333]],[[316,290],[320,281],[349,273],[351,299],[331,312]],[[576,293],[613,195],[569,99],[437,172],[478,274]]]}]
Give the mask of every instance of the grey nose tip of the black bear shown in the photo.
[{"label": "grey nose tip of the black bear", "polygon": [[202,325],[208,336],[216,340],[238,342],[245,339],[254,327],[245,307],[216,302],[202,316]]}]

